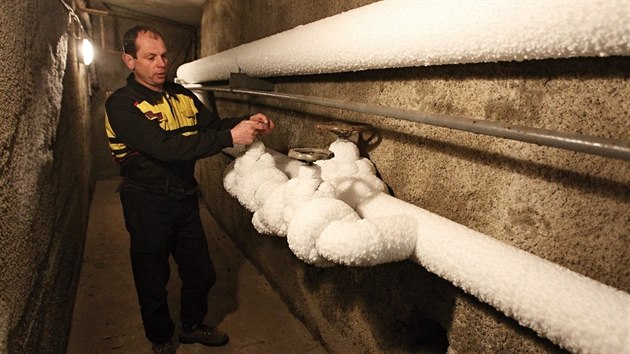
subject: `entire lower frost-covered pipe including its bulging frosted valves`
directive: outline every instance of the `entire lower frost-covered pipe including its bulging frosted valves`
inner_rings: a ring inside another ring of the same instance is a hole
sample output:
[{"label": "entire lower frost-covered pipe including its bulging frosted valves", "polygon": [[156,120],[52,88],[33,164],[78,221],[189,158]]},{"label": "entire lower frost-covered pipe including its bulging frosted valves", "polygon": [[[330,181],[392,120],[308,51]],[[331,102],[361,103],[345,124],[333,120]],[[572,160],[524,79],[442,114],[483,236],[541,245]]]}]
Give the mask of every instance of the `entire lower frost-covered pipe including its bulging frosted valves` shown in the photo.
[{"label": "entire lower frost-covered pipe including its bulging frosted valves", "polygon": [[330,150],[335,158],[304,168],[254,144],[224,185],[305,262],[412,259],[572,352],[630,352],[628,293],[388,195],[350,142]]}]

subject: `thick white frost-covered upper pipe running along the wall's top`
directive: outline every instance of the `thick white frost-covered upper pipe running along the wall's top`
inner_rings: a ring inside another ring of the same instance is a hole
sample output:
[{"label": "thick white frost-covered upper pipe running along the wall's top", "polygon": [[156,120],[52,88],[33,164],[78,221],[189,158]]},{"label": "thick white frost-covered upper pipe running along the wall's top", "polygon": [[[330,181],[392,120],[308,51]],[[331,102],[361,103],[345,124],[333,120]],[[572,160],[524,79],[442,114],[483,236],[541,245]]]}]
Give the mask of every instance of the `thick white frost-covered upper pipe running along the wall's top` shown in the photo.
[{"label": "thick white frost-covered upper pipe running along the wall's top", "polygon": [[379,1],[180,66],[185,83],[630,55],[627,1]]}]

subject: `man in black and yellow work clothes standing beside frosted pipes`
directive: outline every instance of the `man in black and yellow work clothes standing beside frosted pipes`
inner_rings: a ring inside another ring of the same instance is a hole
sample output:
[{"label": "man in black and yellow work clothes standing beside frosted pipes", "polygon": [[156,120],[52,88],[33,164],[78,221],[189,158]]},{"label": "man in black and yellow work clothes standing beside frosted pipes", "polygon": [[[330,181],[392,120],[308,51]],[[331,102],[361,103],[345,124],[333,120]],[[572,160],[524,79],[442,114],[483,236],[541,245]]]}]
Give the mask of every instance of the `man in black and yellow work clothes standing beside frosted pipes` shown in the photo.
[{"label": "man in black and yellow work clothes standing beside frosted pipes", "polygon": [[127,85],[106,102],[109,147],[120,164],[120,191],[146,337],[155,353],[175,353],[166,284],[173,255],[182,280],[180,343],[221,346],[228,336],[203,324],[215,283],[198,210],[195,161],[233,144],[251,144],[274,123],[257,113],[220,119],[184,87],[166,82],[161,34],[137,26],[123,38]]}]

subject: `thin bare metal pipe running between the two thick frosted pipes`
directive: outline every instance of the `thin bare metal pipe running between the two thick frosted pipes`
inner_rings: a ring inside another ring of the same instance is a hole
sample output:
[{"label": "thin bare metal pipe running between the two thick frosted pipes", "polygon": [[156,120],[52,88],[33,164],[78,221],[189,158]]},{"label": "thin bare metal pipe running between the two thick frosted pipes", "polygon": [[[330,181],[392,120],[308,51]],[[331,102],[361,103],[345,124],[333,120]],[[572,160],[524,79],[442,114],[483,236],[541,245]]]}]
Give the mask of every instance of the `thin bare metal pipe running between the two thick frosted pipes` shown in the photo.
[{"label": "thin bare metal pipe running between the two thick frosted pipes", "polygon": [[530,128],[495,121],[477,120],[464,117],[447,116],[442,114],[428,114],[425,112],[410,109],[383,107],[370,103],[348,102],[330,98],[248,89],[233,89],[229,87],[199,85],[189,85],[187,87],[191,90],[262,96],[272,99],[338,108],[370,115],[398,118],[417,123],[430,124],[438,127],[457,129],[476,134],[496,136],[499,138],[518,140],[526,143],[551,146],[565,150],[630,161],[630,143],[622,140],[606,139],[570,132]]}]

